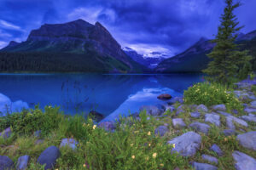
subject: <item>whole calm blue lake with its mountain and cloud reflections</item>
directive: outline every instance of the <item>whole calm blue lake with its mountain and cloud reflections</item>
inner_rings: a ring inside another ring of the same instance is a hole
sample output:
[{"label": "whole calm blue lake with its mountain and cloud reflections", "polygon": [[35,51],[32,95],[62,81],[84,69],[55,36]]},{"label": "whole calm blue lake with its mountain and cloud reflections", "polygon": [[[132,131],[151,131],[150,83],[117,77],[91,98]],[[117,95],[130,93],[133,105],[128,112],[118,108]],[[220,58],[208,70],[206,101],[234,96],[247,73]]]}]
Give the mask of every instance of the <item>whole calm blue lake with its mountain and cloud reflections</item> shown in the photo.
[{"label": "whole calm blue lake with its mountain and cloud reflections", "polygon": [[0,111],[57,105],[68,115],[94,110],[113,120],[142,105],[165,104],[158,95],[181,96],[201,81],[199,74],[0,74]]}]

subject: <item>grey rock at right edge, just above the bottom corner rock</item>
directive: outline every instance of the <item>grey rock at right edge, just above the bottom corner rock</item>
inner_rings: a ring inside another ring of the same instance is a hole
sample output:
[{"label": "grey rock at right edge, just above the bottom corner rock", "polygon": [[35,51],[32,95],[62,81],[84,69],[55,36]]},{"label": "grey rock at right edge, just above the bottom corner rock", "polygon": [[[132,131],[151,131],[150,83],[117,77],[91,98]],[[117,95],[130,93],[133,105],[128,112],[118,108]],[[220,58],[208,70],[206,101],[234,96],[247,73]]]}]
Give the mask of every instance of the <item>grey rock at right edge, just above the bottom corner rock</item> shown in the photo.
[{"label": "grey rock at right edge, just above the bottom corner rock", "polygon": [[256,150],[256,131],[239,134],[236,139],[243,147]]}]

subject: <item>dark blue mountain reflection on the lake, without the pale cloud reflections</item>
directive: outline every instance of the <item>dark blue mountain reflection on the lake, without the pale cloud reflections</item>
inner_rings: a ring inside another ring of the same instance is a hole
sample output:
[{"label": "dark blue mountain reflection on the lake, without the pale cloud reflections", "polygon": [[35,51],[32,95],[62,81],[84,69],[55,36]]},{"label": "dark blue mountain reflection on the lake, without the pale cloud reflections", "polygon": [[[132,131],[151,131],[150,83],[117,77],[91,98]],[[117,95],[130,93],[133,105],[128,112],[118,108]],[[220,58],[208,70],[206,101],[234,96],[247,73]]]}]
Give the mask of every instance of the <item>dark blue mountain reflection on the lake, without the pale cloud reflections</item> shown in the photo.
[{"label": "dark blue mountain reflection on the lake, without the pale cloud reflections", "polygon": [[[197,81],[196,75],[0,75],[1,93],[12,101],[21,99],[30,107],[39,103],[42,108],[62,105],[66,114],[96,109],[106,116],[143,89],[169,88],[180,93]],[[148,102],[154,105],[152,99]]]}]

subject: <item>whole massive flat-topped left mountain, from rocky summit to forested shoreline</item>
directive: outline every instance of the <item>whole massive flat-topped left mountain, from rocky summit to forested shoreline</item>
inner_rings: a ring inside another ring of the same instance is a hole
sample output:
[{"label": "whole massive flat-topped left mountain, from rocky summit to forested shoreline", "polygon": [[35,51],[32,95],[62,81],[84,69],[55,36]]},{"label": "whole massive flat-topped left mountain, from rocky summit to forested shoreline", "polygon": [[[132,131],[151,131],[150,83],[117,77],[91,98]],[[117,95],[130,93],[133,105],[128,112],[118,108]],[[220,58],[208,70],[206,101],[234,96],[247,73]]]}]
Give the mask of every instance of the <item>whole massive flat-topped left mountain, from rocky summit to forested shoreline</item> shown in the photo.
[{"label": "whole massive flat-topped left mountain, from rocky summit to forested shoreline", "polygon": [[0,71],[137,72],[137,64],[99,22],[45,24],[0,50]]}]

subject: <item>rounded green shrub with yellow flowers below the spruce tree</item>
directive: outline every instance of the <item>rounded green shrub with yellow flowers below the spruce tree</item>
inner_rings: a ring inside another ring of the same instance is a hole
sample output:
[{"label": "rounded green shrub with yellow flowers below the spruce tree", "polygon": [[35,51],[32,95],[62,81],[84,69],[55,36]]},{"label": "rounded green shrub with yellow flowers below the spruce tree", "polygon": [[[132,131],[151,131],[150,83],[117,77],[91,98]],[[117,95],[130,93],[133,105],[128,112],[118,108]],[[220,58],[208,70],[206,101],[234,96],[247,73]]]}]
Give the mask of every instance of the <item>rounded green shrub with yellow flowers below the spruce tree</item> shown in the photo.
[{"label": "rounded green shrub with yellow flowers below the spruce tree", "polygon": [[184,91],[185,104],[219,105],[224,104],[228,110],[242,110],[241,102],[235,97],[232,89],[218,83],[200,82]]}]

